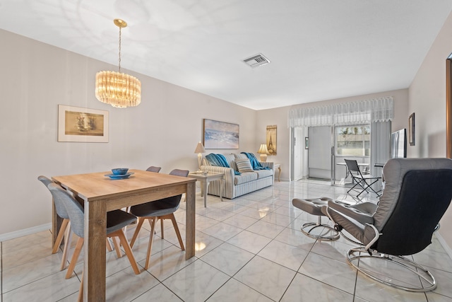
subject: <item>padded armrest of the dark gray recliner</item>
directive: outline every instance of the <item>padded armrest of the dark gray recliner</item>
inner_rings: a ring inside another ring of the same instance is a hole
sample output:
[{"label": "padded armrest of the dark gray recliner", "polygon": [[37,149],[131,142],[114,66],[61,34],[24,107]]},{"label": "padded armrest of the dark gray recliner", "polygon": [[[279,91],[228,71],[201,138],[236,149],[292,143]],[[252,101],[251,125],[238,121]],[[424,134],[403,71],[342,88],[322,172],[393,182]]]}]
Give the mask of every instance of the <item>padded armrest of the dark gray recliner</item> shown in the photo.
[{"label": "padded armrest of the dark gray recliner", "polygon": [[362,224],[374,223],[373,214],[376,209],[376,204],[372,204],[371,202],[363,202],[362,204],[350,205],[345,204],[344,202],[339,202],[338,200],[329,200],[328,208],[334,209],[340,214],[355,219]]}]

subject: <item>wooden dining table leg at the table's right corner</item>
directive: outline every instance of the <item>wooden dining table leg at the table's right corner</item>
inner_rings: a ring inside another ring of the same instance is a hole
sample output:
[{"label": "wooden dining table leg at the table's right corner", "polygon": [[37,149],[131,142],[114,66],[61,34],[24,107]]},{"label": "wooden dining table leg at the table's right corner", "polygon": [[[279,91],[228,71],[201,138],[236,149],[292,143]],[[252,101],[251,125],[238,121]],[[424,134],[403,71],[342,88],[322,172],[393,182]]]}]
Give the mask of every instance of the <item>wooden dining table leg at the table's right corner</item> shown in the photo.
[{"label": "wooden dining table leg at the table's right corner", "polygon": [[[206,192],[204,192],[206,194]],[[186,185],[185,205],[185,259],[189,260],[195,255],[195,211],[196,211],[196,186],[195,182]],[[105,249],[104,249],[105,250]]]}]

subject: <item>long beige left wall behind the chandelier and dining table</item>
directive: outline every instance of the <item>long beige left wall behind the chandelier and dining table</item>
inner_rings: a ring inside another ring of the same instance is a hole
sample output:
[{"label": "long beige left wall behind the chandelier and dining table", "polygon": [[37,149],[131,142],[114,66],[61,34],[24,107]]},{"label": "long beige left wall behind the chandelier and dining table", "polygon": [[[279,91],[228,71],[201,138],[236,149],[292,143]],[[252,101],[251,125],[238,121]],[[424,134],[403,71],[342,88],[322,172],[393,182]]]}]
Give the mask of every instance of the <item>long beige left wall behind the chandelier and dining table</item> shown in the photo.
[{"label": "long beige left wall behind the chandelier and dining table", "polygon": [[[0,40],[0,236],[51,221],[50,194],[39,175],[119,166],[197,169],[203,118],[239,124],[239,151],[257,150],[254,110],[141,74],[134,74],[142,82],[141,105],[112,108],[95,99],[95,73],[117,66],[4,30]],[[57,142],[58,104],[108,110],[109,142]]]}]

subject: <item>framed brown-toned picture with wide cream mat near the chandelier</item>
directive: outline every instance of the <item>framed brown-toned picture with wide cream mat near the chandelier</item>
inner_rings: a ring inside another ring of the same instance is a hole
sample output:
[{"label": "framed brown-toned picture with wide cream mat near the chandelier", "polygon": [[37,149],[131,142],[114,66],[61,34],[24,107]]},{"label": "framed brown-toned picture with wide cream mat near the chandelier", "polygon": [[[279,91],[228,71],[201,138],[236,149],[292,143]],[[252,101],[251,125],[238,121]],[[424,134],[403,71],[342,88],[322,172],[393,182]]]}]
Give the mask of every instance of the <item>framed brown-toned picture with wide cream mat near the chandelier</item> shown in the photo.
[{"label": "framed brown-toned picture with wide cream mat near the chandelier", "polygon": [[108,142],[108,111],[58,105],[58,141]]}]

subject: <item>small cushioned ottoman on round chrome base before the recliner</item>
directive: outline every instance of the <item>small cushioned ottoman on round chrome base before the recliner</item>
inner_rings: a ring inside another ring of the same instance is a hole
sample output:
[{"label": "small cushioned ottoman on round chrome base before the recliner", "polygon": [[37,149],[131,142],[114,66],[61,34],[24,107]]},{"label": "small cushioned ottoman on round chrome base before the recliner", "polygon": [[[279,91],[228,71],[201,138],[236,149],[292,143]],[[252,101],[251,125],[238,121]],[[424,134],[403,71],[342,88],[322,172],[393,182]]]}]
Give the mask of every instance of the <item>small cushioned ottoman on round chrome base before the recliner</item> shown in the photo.
[{"label": "small cushioned ottoman on round chrome base before the recliner", "polygon": [[326,208],[328,206],[328,200],[333,200],[328,197],[320,197],[313,199],[292,199],[292,204],[294,207],[301,209],[309,214],[319,216],[319,221],[317,223],[308,222],[302,225],[302,232],[314,239],[320,240],[338,240],[339,232],[336,231],[332,226],[328,226],[328,224],[321,223],[321,217],[326,216],[322,211],[322,208]]}]

